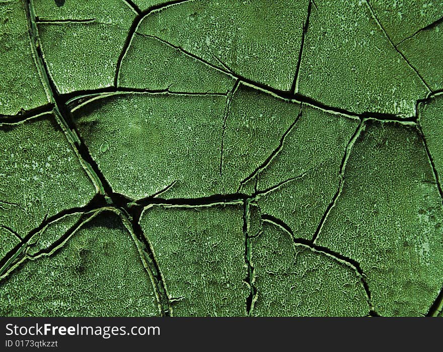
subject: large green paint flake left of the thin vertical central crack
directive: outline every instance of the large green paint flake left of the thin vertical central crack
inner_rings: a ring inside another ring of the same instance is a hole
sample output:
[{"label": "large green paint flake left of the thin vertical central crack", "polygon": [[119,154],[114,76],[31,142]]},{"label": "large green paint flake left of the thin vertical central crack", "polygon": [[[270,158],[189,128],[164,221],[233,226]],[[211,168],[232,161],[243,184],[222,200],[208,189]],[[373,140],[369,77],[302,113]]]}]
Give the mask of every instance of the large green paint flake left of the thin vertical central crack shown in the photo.
[{"label": "large green paint flake left of the thin vertical central crack", "polygon": [[[115,192],[139,199],[221,193],[225,96],[116,94],[74,111],[92,156]],[[163,197],[163,195],[162,195]]]}]

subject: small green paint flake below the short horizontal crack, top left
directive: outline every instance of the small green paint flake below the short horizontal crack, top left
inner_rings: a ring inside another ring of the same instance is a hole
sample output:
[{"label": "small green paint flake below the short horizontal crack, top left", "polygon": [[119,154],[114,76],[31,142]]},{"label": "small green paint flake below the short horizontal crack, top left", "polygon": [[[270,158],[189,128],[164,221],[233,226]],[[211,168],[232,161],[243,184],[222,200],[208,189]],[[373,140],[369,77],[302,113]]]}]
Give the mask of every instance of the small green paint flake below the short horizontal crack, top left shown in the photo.
[{"label": "small green paint flake below the short horizontal crack, top left", "polygon": [[43,56],[59,93],[114,85],[126,31],[97,23],[41,23]]}]

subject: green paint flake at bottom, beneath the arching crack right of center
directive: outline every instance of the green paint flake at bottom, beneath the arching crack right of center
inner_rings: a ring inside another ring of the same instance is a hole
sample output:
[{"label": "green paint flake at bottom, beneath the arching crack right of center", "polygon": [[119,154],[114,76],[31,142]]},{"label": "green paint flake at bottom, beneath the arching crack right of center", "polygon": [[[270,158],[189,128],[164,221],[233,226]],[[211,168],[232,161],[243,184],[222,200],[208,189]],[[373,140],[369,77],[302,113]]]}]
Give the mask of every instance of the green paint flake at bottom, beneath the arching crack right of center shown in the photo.
[{"label": "green paint flake at bottom, beneath the arching crack right of center", "polygon": [[355,270],[265,224],[251,239],[257,298],[253,316],[364,316],[369,311]]}]

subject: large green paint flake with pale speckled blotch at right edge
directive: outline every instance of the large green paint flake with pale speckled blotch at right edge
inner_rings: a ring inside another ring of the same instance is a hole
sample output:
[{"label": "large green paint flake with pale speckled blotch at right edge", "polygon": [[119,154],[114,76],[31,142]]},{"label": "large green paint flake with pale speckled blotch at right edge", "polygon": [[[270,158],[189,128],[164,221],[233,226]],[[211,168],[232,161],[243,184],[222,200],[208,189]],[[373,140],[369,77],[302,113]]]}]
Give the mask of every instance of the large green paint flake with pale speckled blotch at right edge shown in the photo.
[{"label": "large green paint flake with pale speckled blotch at right edge", "polygon": [[426,314],[443,284],[442,217],[417,129],[370,120],[316,243],[360,263],[379,314]]}]

